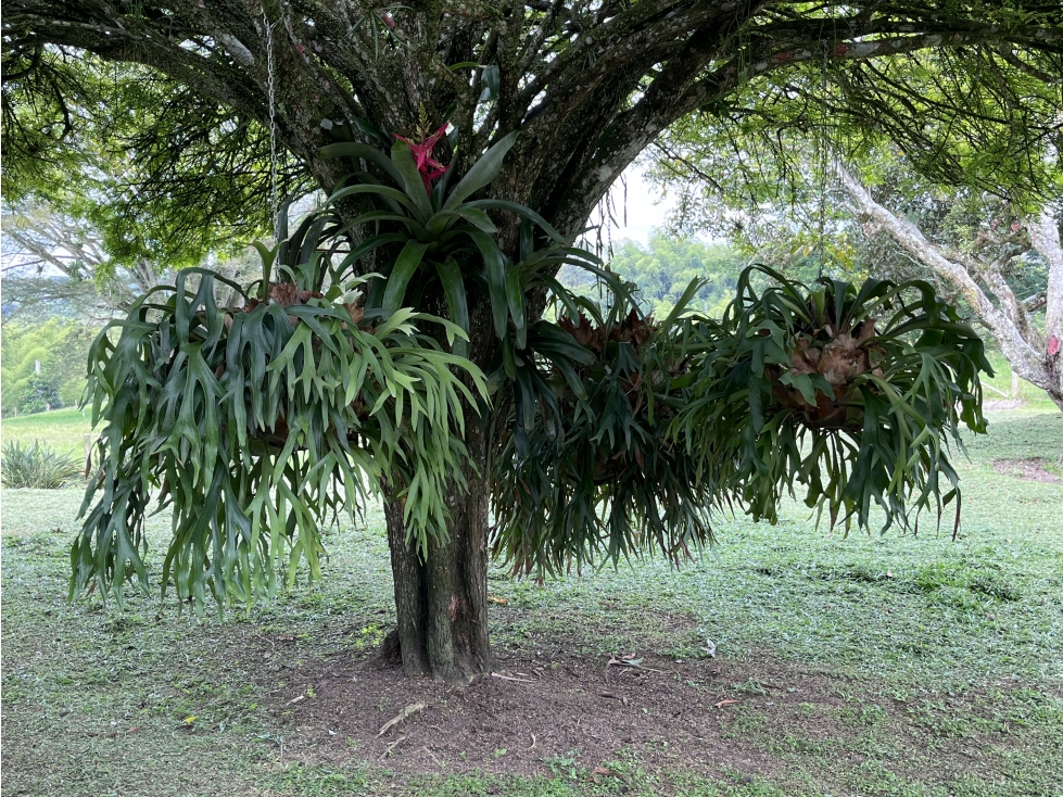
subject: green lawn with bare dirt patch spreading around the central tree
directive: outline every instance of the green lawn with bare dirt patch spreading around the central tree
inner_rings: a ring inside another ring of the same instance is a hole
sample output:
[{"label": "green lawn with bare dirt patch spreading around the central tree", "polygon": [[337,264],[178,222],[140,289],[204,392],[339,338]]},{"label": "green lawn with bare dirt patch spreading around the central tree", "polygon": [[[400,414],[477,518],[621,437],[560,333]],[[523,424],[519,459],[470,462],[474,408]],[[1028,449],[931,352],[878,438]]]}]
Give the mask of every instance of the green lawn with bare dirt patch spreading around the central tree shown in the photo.
[{"label": "green lawn with bare dirt patch spreading around the central tree", "polygon": [[197,620],[69,606],[78,491],[5,490],[3,794],[1058,797],[1063,483],[995,465],[1059,457],[1040,409],[970,441],[956,542],[951,513],[844,537],[794,506],[721,520],[679,571],[493,570],[505,678],[465,691],[368,665],[394,622],[378,511],[329,532],[324,582]]}]

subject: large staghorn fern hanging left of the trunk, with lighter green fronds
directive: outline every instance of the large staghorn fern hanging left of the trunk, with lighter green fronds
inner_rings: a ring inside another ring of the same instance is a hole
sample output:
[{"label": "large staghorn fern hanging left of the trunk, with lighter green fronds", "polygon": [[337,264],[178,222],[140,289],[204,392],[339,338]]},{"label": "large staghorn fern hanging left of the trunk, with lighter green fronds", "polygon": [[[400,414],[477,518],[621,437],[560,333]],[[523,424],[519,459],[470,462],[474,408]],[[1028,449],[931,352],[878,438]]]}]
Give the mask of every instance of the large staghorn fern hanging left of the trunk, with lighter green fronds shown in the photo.
[{"label": "large staghorn fern hanging left of the trunk, with lighter green fronds", "polygon": [[127,572],[147,587],[153,497],[174,517],[163,591],[172,579],[198,611],[207,596],[225,605],[273,595],[301,561],[316,578],[320,528],[356,514],[381,483],[404,504],[418,548],[446,534],[446,484],[465,457],[463,402],[483,401],[485,381],[416,325],[464,332],[409,309],[363,317],[340,303],[352,284],[327,299],[313,286],[270,283],[265,302],[233,284],[245,306],[219,307],[218,279],[182,271],[93,344],[102,468],[72,551],[72,597],[99,586],[121,606]]}]

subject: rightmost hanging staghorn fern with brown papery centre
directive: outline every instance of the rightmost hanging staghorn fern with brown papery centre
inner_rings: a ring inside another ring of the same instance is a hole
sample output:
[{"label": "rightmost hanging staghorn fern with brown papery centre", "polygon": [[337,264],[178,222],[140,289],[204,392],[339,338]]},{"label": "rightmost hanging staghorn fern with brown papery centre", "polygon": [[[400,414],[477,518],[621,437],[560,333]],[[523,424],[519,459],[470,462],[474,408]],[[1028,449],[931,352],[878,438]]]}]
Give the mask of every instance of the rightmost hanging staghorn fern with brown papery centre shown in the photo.
[{"label": "rightmost hanging staghorn fern with brown papery centre", "polygon": [[[772,283],[755,288],[756,276]],[[983,432],[982,340],[926,282],[870,279],[809,288],[746,269],[722,321],[692,328],[692,395],[671,437],[699,457],[700,479],[775,521],[784,492],[805,491],[831,522],[908,524],[956,501],[949,441]],[[944,483],[942,483],[944,480]]]}]

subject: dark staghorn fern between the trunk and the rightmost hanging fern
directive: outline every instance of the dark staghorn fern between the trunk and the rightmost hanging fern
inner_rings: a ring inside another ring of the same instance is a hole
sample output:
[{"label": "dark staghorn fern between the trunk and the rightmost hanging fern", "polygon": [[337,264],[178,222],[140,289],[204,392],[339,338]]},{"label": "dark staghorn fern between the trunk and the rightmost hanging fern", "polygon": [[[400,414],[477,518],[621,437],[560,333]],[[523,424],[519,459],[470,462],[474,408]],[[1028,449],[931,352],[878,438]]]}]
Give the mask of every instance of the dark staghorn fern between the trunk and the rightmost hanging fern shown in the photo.
[{"label": "dark staghorn fern between the trunk and the rightmost hanging fern", "polygon": [[518,573],[650,551],[678,561],[711,537],[718,496],[698,479],[699,457],[667,437],[689,394],[680,315],[699,286],[656,322],[638,314],[632,286],[608,283],[608,312],[569,296],[558,325],[533,327],[520,353],[492,470],[493,551]]}]

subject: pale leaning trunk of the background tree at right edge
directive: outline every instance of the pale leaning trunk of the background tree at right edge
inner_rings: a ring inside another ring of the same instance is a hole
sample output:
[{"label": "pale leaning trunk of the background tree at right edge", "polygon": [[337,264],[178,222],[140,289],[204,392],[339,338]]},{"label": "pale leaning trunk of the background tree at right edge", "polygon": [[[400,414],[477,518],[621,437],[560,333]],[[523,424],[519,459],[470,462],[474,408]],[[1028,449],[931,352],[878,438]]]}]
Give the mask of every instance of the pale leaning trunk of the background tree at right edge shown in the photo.
[{"label": "pale leaning trunk of the background tree at right edge", "polygon": [[[954,286],[978,320],[997,339],[1012,371],[1046,391],[1063,410],[1063,355],[1059,350],[1063,340],[1060,330],[1063,317],[1063,250],[1060,246],[1059,226],[1051,211],[1046,208],[1037,219],[1027,220],[1030,240],[1049,266],[1048,291],[1043,296],[1046,333],[1041,334],[1030,322],[1027,303],[1015,296],[1001,275],[1000,264],[977,262],[954,252],[946,253],[942,248],[926,240],[914,224],[875,202],[863,184],[843,164],[835,164],[835,170],[856,210],[888,232],[919,263]],[[997,304],[978,284],[979,278],[997,299]]]}]

